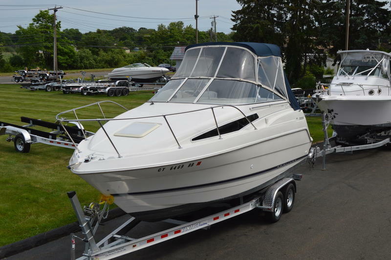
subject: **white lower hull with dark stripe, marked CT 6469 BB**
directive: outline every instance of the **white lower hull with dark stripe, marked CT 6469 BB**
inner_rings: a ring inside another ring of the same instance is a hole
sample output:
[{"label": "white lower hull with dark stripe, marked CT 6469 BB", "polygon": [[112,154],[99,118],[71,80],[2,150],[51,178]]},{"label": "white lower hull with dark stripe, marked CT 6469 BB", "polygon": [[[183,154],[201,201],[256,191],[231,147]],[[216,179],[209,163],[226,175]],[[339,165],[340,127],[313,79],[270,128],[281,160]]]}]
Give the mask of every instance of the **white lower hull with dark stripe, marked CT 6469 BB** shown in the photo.
[{"label": "white lower hull with dark stripe, marked CT 6469 BB", "polygon": [[79,175],[133,217],[158,220],[261,190],[303,161],[309,146],[300,130],[196,161]]}]

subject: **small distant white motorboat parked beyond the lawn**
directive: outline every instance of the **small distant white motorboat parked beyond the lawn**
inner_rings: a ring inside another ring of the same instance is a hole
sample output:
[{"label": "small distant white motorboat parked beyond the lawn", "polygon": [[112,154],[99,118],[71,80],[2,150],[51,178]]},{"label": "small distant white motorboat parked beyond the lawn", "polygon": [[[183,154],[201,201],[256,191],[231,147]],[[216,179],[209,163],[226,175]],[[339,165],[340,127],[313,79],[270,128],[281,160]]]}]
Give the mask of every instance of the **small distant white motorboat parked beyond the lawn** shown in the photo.
[{"label": "small distant white motorboat parked beyond the lawn", "polygon": [[135,82],[154,82],[170,70],[164,67],[152,67],[146,63],[134,63],[120,68],[114,68],[109,73],[111,80],[131,78]]}]

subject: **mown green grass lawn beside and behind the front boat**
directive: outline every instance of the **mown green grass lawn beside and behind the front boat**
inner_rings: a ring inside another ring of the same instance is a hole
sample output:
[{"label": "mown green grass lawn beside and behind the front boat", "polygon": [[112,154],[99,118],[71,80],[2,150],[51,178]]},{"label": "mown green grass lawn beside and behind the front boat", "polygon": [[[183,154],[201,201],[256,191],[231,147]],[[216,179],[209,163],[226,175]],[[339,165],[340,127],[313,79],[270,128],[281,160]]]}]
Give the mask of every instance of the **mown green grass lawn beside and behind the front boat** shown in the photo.
[{"label": "mown green grass lawn beside and behind the front boat", "polygon": [[[0,121],[23,125],[21,116],[54,122],[55,115],[100,100],[112,100],[134,108],[152,97],[151,91],[130,92],[126,97],[106,95],[65,95],[62,91],[30,91],[19,85],[0,84]],[[118,107],[104,107],[107,116],[120,112]],[[80,118],[100,117],[98,110],[86,110]],[[85,117],[84,117],[85,116]],[[314,142],[323,139],[320,118],[307,118]],[[94,125],[96,126],[96,125]],[[85,124],[86,129],[91,129]],[[13,142],[0,136],[0,246],[76,221],[68,191],[76,191],[81,204],[97,200],[99,192],[66,166],[72,149],[34,144],[29,153],[17,153]]]}]

